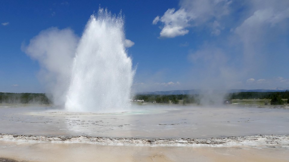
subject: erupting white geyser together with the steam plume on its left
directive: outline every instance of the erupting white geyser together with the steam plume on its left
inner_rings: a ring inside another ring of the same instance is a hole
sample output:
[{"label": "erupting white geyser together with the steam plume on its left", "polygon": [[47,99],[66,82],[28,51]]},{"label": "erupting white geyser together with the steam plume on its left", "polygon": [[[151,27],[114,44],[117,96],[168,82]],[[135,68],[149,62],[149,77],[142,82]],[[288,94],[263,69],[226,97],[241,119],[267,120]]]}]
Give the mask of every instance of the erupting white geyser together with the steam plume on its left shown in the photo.
[{"label": "erupting white geyser together with the steam plume on its left", "polygon": [[70,112],[110,113],[129,105],[134,76],[123,16],[99,8],[79,39],[71,29],[43,30],[22,49],[39,61],[39,78],[55,105]]}]

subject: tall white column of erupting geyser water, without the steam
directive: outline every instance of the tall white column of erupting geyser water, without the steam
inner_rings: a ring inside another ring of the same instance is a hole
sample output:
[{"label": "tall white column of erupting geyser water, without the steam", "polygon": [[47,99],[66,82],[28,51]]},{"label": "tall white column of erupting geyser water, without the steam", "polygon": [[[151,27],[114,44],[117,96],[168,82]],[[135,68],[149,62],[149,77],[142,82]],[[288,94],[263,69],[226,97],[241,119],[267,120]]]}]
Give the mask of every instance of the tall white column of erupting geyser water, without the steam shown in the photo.
[{"label": "tall white column of erupting geyser water, without the steam", "polygon": [[106,9],[91,16],[76,49],[67,111],[110,113],[129,107],[134,71],[123,26],[123,17]]}]

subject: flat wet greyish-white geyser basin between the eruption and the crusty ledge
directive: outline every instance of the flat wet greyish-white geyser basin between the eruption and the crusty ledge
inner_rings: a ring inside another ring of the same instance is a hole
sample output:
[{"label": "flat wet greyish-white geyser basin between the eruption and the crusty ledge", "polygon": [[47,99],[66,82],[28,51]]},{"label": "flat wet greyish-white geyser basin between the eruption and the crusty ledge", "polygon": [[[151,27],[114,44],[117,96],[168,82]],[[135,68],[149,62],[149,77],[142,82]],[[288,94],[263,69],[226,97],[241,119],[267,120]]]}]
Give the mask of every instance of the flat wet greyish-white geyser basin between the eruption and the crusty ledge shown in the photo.
[{"label": "flat wet greyish-white geyser basin between the eruption and the crusty ledge", "polygon": [[0,114],[0,133],[11,134],[138,138],[289,134],[289,110],[272,107],[144,105],[129,112],[99,114],[12,106],[1,107]]}]

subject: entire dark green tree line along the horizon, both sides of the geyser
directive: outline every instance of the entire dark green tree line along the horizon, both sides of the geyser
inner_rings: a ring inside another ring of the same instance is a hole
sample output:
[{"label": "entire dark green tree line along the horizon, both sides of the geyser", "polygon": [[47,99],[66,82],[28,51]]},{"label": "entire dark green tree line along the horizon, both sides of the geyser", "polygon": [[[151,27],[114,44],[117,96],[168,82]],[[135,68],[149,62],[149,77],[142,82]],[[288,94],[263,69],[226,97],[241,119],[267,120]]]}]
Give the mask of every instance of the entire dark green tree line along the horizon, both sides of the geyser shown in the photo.
[{"label": "entire dark green tree line along the horizon, both sides of the geyser", "polygon": [[[133,100],[144,100],[144,102],[156,102],[169,104],[200,104],[200,98],[206,98],[205,94],[200,95],[135,95]],[[281,105],[286,102],[289,103],[289,91],[284,92],[236,92],[229,93],[224,100],[233,99],[271,99],[271,105]],[[282,100],[283,99],[283,100]],[[0,92],[0,103],[19,103],[19,104],[52,104],[45,93],[3,93]]]}]

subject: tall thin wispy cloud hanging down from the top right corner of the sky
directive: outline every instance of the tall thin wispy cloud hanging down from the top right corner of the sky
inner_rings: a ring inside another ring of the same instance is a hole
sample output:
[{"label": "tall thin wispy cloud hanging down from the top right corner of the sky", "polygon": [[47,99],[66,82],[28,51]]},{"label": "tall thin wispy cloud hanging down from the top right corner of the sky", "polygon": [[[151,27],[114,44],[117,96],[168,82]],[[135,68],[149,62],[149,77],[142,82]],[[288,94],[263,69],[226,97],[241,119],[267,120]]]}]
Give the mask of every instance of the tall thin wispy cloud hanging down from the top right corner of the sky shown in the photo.
[{"label": "tall thin wispy cloud hanging down from the top right corner of the sky", "polygon": [[244,70],[251,74],[260,73],[266,64],[270,64],[273,50],[274,57],[280,57],[278,51],[288,50],[272,42],[285,41],[281,39],[288,33],[289,1],[245,2],[247,12],[243,13],[240,24],[232,29],[232,40],[236,46],[242,47]]}]

